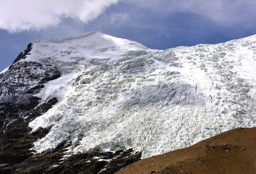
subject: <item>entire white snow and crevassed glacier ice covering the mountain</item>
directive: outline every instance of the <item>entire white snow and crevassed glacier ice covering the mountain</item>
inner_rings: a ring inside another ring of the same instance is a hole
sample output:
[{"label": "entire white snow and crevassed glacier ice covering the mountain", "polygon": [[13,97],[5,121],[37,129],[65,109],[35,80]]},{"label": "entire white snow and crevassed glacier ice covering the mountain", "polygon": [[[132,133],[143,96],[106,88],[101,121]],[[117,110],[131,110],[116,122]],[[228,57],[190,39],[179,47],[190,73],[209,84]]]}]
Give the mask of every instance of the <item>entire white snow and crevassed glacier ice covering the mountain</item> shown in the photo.
[{"label": "entire white snow and crevassed glacier ice covering the mountain", "polygon": [[256,35],[167,50],[99,31],[33,42],[23,61],[62,72],[37,95],[57,97],[29,126],[50,129],[35,154],[72,141],[73,153],[131,148],[142,158],[256,126]]}]

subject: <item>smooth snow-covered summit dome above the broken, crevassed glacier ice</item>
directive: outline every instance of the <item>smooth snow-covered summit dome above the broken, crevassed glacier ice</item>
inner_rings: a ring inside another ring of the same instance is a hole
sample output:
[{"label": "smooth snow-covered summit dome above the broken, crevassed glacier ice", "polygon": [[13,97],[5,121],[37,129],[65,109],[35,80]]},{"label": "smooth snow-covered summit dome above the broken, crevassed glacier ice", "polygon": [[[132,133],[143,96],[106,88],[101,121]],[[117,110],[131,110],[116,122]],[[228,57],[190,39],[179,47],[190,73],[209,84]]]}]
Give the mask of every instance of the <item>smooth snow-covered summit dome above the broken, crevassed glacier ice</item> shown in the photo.
[{"label": "smooth snow-covered summit dome above the broken, crevassed glacier ice", "polygon": [[87,65],[115,61],[128,51],[149,50],[146,46],[100,31],[64,39],[35,40],[31,55],[24,61],[38,61],[57,66],[62,73],[79,71]]}]

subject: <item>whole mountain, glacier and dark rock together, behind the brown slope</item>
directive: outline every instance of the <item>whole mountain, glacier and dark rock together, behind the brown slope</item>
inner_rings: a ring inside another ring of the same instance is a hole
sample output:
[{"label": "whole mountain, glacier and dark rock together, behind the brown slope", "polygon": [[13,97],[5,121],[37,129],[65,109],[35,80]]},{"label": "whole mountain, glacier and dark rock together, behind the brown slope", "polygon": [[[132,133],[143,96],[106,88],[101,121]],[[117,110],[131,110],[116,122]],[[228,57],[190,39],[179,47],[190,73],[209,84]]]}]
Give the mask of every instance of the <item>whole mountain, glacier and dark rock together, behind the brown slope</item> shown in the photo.
[{"label": "whole mountain, glacier and dark rock together, behind the brown slope", "polygon": [[36,40],[0,73],[0,172],[109,174],[255,127],[255,54],[256,35],[167,50],[98,31]]}]

